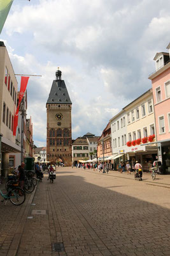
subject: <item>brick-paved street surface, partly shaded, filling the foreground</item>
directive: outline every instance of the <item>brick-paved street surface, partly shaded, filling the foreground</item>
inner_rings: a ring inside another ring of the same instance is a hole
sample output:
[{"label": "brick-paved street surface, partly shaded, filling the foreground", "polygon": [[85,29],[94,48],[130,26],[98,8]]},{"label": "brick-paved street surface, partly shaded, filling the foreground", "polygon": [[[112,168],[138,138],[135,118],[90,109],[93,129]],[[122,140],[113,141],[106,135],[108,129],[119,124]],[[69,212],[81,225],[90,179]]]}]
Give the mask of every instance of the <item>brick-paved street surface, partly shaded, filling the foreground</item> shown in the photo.
[{"label": "brick-paved street surface, partly shaded, filling the foreground", "polygon": [[[170,255],[170,176],[57,168],[25,204],[1,202],[0,256]],[[1,185],[3,188],[3,185]]]}]

